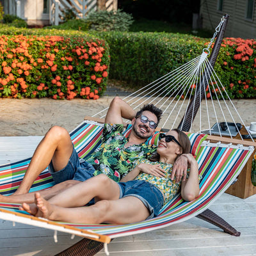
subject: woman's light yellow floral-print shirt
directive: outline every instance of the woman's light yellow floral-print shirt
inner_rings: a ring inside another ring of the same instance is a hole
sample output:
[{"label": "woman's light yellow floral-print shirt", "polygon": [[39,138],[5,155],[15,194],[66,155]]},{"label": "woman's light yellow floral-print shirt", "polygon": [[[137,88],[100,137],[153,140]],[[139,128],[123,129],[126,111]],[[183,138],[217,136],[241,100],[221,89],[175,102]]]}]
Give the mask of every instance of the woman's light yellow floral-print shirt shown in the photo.
[{"label": "woman's light yellow floral-print shirt", "polygon": [[[164,204],[170,201],[173,198],[173,196],[177,195],[177,193],[180,190],[181,181],[178,183],[175,183],[175,179],[171,180],[173,164],[162,163],[162,162],[150,162],[147,159],[140,159],[134,163],[133,168],[135,168],[135,166],[140,163],[160,164],[161,168],[166,171],[166,174],[164,177],[156,177],[154,175],[141,172],[135,178],[135,180],[145,180],[153,184],[154,186],[156,186],[158,189],[160,189],[160,191],[163,193],[163,196],[164,196]],[[189,175],[189,170],[187,172],[187,177],[188,175]]]}]

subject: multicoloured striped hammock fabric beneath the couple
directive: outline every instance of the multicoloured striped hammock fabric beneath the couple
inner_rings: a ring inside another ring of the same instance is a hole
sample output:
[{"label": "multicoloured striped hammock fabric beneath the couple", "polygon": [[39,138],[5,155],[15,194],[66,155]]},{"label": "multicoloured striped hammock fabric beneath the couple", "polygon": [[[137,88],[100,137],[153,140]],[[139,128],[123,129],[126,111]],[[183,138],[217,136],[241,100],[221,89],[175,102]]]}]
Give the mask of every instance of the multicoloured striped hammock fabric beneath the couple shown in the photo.
[{"label": "multicoloured striped hammock fabric beneath the couple", "polygon": [[[79,156],[85,157],[100,145],[100,135],[102,127],[94,124],[82,123],[70,133],[72,141]],[[129,133],[129,132],[127,132]],[[192,134],[191,143],[198,140],[202,134]],[[155,141],[153,138],[152,140]],[[236,147],[233,145],[223,145],[220,143],[212,144],[204,141],[196,159],[199,164],[199,172],[202,175],[200,181],[200,196],[193,202],[185,202],[180,195],[175,196],[168,204],[161,209],[159,216],[152,220],[131,223],[129,225],[84,225],[72,223],[60,223],[77,230],[92,230],[98,234],[108,235],[111,238],[128,236],[147,232],[157,228],[166,227],[173,223],[188,220],[193,216],[205,211],[209,205],[223,193],[230,184],[236,179],[243,169],[244,164],[253,152],[253,147]],[[0,193],[8,195],[13,193],[19,186],[20,180],[28,166],[29,159],[18,163],[0,166]],[[33,185],[33,191],[50,188],[53,181],[51,175],[45,170]],[[18,210],[19,204],[0,203],[0,218],[4,218],[1,209],[10,212],[21,212]],[[26,214],[26,212],[22,212]],[[28,220],[28,225],[36,225],[35,221]],[[41,226],[39,226],[41,227]]]}]

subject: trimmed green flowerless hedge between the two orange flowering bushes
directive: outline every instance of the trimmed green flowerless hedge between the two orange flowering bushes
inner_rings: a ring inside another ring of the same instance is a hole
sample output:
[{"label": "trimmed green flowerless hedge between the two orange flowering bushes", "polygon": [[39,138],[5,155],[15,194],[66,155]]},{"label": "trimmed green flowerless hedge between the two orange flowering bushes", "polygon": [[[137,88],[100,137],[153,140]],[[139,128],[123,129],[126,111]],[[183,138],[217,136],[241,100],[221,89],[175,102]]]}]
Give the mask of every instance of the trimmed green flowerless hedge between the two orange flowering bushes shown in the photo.
[{"label": "trimmed green flowerless hedge between the two orange flowering bushes", "polygon": [[170,33],[97,33],[110,45],[113,79],[143,86],[202,53],[204,42]]}]

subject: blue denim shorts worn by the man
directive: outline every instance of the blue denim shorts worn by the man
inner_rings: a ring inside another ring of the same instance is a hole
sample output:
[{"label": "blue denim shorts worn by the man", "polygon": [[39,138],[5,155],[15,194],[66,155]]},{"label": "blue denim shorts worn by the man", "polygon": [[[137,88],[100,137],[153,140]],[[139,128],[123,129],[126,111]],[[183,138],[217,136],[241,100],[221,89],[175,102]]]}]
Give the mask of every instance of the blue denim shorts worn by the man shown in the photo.
[{"label": "blue denim shorts worn by the man", "polygon": [[51,161],[48,166],[48,170],[52,175],[52,179],[56,183],[60,183],[65,180],[88,180],[94,177],[93,173],[95,172],[92,164],[87,163],[83,158],[79,159],[74,145],[72,155],[70,156],[67,165],[63,169],[58,172],[54,172],[54,167]]}]

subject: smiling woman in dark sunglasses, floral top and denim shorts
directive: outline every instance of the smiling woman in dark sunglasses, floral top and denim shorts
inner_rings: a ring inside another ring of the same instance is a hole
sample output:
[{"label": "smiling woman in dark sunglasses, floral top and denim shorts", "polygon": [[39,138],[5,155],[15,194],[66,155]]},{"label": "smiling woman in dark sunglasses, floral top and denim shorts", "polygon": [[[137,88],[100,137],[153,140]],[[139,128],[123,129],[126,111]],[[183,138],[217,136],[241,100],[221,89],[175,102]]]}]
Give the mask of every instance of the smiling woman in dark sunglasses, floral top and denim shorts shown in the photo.
[{"label": "smiling woman in dark sunglasses, floral top and denim shorts", "polygon": [[[20,209],[56,221],[126,224],[157,216],[179,189],[184,200],[194,200],[199,194],[198,164],[188,154],[191,147],[188,136],[174,129],[160,134],[159,139],[155,159],[134,163],[134,169],[121,182],[100,174],[48,201],[36,193],[35,204],[22,204]],[[189,175],[175,173],[173,179],[172,165],[180,154],[188,159]],[[96,203],[84,207],[92,198]]]}]

